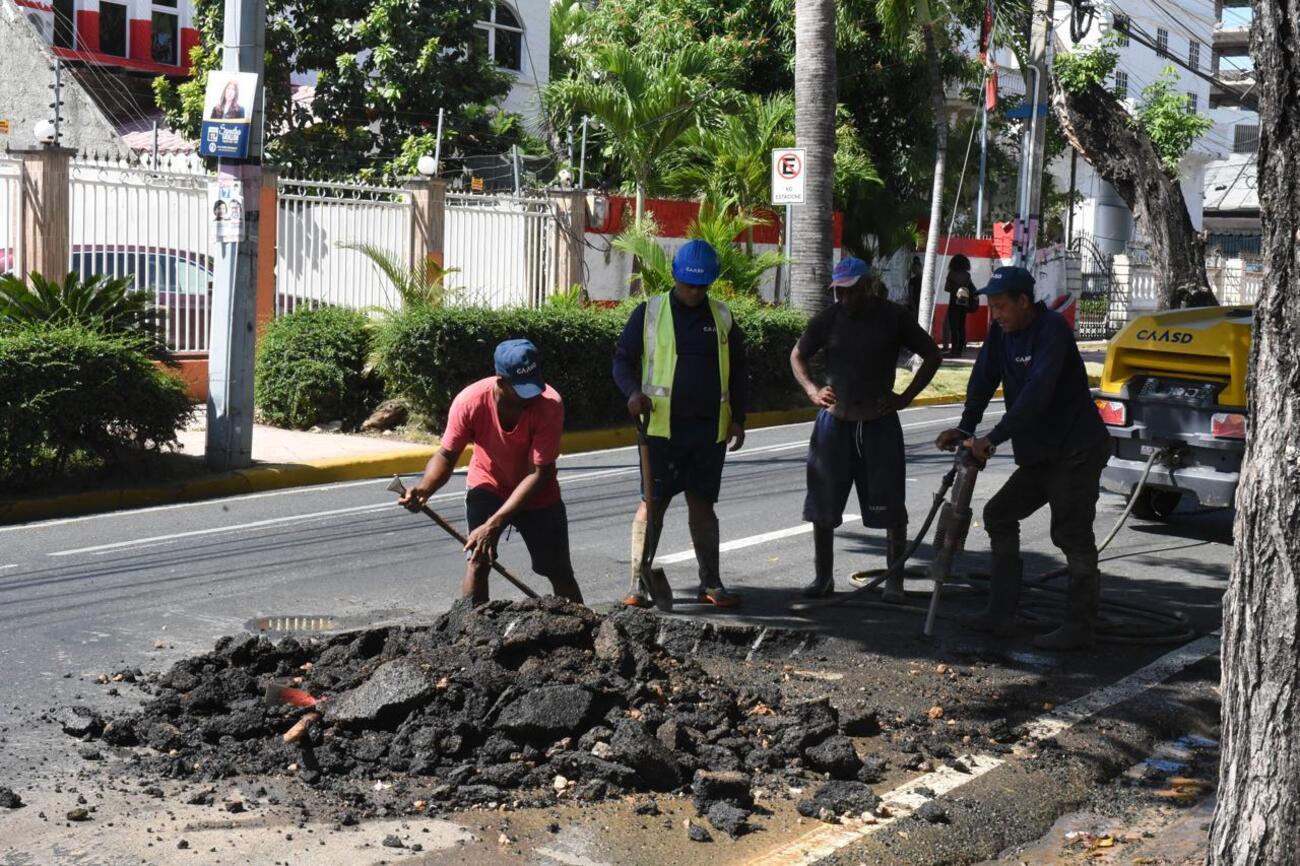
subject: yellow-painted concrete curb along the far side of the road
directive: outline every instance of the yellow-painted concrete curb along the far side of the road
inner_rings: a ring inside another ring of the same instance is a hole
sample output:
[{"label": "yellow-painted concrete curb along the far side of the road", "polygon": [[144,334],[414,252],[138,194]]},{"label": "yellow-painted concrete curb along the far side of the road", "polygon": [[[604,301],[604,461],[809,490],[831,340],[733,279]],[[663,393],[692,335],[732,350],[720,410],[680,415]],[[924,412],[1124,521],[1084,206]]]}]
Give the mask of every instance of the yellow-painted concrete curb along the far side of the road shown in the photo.
[{"label": "yellow-painted concrete curb along the far side of the road", "polygon": [[[1096,377],[1088,377],[1096,385]],[[998,390],[997,395],[1001,397]],[[918,397],[913,406],[949,406],[963,402],[963,397]],[[805,406],[793,410],[754,412],[746,426],[750,430],[783,424],[801,424],[816,417],[816,407]],[[560,440],[563,454],[581,454],[633,445],[636,430],[632,426],[610,428],[604,430],[573,430]],[[217,497],[233,497],[243,493],[261,493],[282,488],[300,488],[312,484],[333,481],[360,481],[380,479],[389,475],[411,475],[424,469],[434,453],[433,446],[411,446],[400,451],[381,451],[358,456],[309,460],[306,463],[268,463],[263,466],[213,475],[191,481],[177,481],[144,488],[124,488],[117,490],[95,490],[91,493],[72,493],[60,497],[40,497],[31,499],[0,501],[0,524],[31,523],[52,518],[72,518],[103,511],[124,508],[144,508],[148,506],[172,505],[174,502],[195,502]],[[469,449],[460,456],[460,466],[469,462]]]}]

